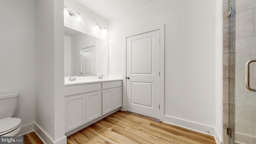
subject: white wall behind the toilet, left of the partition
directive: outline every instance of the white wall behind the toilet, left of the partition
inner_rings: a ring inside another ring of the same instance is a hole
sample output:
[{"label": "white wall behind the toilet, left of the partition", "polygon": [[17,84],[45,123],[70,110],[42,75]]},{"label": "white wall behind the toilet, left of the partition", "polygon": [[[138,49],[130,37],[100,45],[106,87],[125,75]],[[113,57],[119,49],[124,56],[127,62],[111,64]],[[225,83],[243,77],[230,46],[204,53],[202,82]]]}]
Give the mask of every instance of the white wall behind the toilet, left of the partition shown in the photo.
[{"label": "white wall behind the toilet, left of the partition", "polygon": [[0,10],[0,93],[20,93],[15,117],[26,126],[35,122],[34,0],[2,0]]}]

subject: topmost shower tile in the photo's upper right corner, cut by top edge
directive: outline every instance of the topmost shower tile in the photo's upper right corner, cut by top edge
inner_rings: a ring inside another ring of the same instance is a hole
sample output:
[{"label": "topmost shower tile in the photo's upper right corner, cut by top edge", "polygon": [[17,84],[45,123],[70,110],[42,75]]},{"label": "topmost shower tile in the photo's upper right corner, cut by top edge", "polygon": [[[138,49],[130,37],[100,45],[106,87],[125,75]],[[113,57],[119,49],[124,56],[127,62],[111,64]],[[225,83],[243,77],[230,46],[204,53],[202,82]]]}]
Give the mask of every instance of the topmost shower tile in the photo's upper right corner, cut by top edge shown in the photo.
[{"label": "topmost shower tile in the photo's upper right corner, cut by top edge", "polygon": [[236,0],[236,12],[256,8],[255,0]]}]

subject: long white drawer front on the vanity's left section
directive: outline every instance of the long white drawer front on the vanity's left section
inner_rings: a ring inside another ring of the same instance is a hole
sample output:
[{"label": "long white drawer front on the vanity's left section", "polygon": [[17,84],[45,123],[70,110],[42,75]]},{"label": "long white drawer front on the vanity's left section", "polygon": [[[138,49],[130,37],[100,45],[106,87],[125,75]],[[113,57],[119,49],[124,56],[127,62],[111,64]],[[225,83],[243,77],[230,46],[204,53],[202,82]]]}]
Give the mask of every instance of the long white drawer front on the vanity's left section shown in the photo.
[{"label": "long white drawer front on the vanity's left section", "polygon": [[101,84],[84,84],[84,85],[74,85],[74,86],[65,86],[65,96],[73,94],[81,94],[85,92],[93,92],[101,89]]}]

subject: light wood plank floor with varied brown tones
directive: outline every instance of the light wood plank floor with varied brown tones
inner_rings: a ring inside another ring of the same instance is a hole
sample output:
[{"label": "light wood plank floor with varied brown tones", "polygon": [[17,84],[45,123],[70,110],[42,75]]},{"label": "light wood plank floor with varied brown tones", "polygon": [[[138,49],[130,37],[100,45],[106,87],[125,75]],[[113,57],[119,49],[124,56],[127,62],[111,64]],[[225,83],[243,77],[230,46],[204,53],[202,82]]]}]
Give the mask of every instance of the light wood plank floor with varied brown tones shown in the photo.
[{"label": "light wood plank floor with varied brown tones", "polygon": [[[24,136],[24,144],[42,144],[39,138],[40,142],[32,138],[34,137],[32,135],[36,134]],[[25,142],[27,140],[29,142]],[[213,136],[139,114],[118,111],[68,136],[67,144],[216,144],[216,142]]]}]

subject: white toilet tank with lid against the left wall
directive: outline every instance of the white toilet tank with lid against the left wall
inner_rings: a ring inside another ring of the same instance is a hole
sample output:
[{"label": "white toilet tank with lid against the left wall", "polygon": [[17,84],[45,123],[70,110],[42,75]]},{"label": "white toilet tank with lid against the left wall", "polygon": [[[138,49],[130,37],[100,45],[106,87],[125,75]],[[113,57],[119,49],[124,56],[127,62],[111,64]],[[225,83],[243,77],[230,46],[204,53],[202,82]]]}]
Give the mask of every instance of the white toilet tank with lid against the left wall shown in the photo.
[{"label": "white toilet tank with lid against the left wall", "polygon": [[0,119],[14,115],[19,96],[19,93],[0,94]]}]

